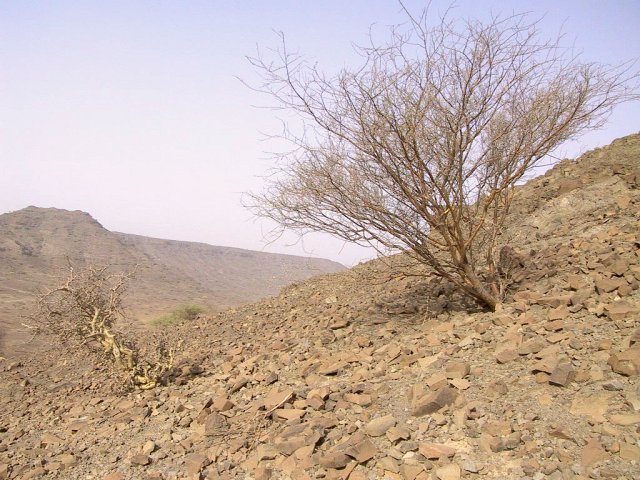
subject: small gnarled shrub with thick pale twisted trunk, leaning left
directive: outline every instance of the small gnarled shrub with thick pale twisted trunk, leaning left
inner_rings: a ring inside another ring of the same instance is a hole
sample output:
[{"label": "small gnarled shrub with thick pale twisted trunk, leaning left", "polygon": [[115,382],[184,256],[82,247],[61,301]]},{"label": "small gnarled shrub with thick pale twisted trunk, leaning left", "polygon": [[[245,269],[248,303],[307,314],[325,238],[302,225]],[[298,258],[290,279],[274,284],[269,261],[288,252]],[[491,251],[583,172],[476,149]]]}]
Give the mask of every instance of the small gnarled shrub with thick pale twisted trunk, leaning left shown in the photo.
[{"label": "small gnarled shrub with thick pale twisted trunk, leaning left", "polygon": [[123,294],[134,272],[113,274],[108,266],[80,270],[69,266],[67,278],[58,287],[39,295],[39,319],[45,332],[100,346],[129,385],[148,390],[171,370],[176,352],[159,342],[155,358],[142,358],[135,343],[116,331],[116,323],[124,316]]}]

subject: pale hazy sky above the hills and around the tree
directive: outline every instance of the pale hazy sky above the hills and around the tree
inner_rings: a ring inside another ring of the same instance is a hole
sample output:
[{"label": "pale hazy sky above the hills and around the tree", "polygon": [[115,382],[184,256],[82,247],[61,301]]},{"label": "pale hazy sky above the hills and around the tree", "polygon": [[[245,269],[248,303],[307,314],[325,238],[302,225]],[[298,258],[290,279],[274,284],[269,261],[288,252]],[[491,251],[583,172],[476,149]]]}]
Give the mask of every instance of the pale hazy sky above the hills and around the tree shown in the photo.
[{"label": "pale hazy sky above the hills and around the tree", "polygon": [[[425,5],[406,1],[414,11]],[[449,1],[433,1],[432,12]],[[640,2],[458,1],[452,16],[546,14],[583,58],[640,55]],[[28,205],[84,210],[140,235],[353,264],[370,251],[312,236],[265,245],[240,193],[260,189],[275,114],[245,59],[256,45],[290,47],[333,71],[353,64],[369,27],[403,21],[392,0],[0,0],[0,213]],[[640,104],[618,107],[567,156],[640,130]]]}]

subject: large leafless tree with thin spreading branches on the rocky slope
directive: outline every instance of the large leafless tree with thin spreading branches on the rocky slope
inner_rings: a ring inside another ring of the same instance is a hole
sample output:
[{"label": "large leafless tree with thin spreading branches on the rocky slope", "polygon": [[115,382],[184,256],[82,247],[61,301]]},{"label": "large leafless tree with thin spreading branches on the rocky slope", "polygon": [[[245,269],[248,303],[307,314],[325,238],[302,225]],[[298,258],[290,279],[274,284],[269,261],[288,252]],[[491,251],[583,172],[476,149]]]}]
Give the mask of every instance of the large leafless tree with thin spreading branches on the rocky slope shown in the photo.
[{"label": "large leafless tree with thin spreading branches on the rocky slope", "polygon": [[566,140],[637,99],[631,65],[581,62],[526,15],[435,27],[427,12],[327,75],[281,46],[252,86],[296,114],[294,148],[247,202],[282,229],[406,251],[495,308],[516,183]]}]

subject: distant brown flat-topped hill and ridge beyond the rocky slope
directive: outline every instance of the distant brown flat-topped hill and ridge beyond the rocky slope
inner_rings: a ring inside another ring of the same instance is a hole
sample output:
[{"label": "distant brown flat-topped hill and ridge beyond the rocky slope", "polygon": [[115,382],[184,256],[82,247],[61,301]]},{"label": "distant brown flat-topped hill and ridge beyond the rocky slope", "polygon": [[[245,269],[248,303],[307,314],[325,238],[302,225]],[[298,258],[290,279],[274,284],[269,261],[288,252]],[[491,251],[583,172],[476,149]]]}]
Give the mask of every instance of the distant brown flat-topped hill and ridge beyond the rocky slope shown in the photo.
[{"label": "distant brown flat-topped hill and ridge beyond the rocky slope", "polygon": [[55,284],[67,258],[77,265],[109,264],[118,270],[138,264],[127,303],[141,320],[188,303],[222,310],[344,269],[319,258],[116,233],[85,212],[27,207],[0,215],[2,350],[19,349],[28,339],[21,315],[31,308],[34,291]]}]

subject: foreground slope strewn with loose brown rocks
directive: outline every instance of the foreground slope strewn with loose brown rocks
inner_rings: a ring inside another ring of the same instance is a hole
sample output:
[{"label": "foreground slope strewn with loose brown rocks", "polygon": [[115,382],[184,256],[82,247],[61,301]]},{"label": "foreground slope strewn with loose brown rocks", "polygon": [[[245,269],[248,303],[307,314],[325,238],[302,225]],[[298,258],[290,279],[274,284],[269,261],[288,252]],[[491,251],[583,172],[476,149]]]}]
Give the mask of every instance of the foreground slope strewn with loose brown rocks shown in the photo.
[{"label": "foreground slope strewn with loose brown rocks", "polygon": [[153,391],[5,361],[0,479],[640,478],[639,186],[633,135],[521,187],[495,313],[396,256],[176,327]]}]

